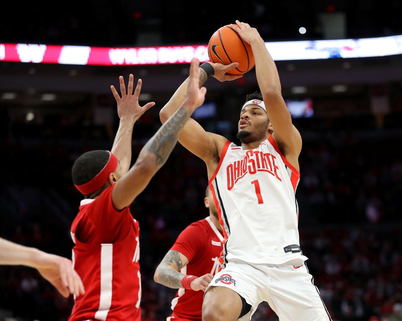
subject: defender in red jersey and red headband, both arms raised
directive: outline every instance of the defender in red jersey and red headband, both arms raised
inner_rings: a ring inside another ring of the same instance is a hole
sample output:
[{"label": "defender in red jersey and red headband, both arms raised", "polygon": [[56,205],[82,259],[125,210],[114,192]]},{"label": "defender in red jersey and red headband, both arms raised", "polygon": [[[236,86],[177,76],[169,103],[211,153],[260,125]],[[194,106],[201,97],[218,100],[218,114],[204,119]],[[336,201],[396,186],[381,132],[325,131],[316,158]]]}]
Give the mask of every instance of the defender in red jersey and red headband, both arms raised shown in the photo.
[{"label": "defender in red jersey and red headband, both arms raised", "polygon": [[74,185],[84,195],[71,237],[74,267],[85,294],[75,298],[69,321],[141,319],[139,225],[129,206],[166,162],[185,122],[204,102],[198,65],[196,59],[191,61],[187,98],[145,144],[130,171],[133,125],[154,103],[139,105],[142,82],[138,80],[133,94],[133,75],[128,93],[120,77],[122,97],[111,87],[120,117],[112,151],[88,151],[72,168]]}]

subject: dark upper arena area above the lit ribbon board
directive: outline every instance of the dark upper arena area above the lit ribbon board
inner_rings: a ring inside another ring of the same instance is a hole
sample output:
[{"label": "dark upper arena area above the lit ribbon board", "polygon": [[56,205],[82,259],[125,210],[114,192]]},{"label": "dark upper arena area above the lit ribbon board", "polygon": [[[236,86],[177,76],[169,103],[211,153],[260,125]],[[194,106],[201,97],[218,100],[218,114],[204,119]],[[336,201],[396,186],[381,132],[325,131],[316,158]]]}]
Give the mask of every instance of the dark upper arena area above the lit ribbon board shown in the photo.
[{"label": "dark upper arena area above the lit ribbon board", "polygon": [[[216,6],[200,5],[188,13],[188,2],[86,1],[10,3],[0,20],[0,41],[91,46],[141,46],[207,43],[218,28],[236,19],[256,27],[266,41],[325,39],[328,26],[341,38],[402,34],[397,0],[283,1],[252,0]],[[57,14],[49,15],[49,12]],[[375,19],[372,19],[375,13]],[[332,16],[332,17],[329,17]],[[331,25],[332,24],[332,25]],[[299,34],[305,27],[307,33]]]}]

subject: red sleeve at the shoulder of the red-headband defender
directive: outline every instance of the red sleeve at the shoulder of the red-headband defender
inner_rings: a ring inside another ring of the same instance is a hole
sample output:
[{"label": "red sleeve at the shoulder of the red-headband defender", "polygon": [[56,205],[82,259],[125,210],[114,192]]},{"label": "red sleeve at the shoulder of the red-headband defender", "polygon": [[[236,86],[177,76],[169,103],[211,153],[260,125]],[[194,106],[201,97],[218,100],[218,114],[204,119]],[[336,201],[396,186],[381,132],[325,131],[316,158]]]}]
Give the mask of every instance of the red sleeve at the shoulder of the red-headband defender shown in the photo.
[{"label": "red sleeve at the shoulder of the red-headband defender", "polygon": [[118,211],[113,206],[112,192],[115,185],[103,191],[92,203],[81,206],[80,240],[87,243],[114,243],[126,237],[130,229],[129,207]]}]

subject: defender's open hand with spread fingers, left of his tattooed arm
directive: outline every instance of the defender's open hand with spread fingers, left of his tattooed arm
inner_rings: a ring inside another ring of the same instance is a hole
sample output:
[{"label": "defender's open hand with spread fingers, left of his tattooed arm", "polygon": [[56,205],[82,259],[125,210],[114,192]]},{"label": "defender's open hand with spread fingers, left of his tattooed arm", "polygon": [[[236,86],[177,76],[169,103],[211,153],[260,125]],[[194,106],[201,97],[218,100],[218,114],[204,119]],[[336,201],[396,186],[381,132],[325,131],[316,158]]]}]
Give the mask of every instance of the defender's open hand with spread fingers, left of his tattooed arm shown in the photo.
[{"label": "defender's open hand with spread fingers, left of his tattooed arm", "polygon": [[155,102],[149,102],[144,106],[140,106],[138,99],[141,92],[142,80],[138,79],[137,87],[135,88],[133,94],[134,87],[134,76],[130,74],[129,76],[129,85],[128,91],[126,92],[126,86],[124,84],[123,76],[119,77],[120,81],[120,91],[122,93],[122,97],[120,97],[116,88],[112,85],[110,88],[112,89],[113,96],[117,101],[117,113],[119,114],[120,119],[122,118],[132,118],[133,121],[138,120],[141,115],[146,112],[149,108],[155,105]]}]

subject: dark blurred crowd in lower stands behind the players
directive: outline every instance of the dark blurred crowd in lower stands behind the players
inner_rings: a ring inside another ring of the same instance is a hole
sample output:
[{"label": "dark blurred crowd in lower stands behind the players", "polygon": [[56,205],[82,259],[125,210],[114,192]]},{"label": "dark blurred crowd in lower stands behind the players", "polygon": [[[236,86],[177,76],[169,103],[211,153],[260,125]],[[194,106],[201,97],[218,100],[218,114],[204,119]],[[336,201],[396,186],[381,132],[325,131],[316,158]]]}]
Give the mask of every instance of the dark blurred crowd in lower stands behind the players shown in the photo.
[{"label": "dark blurred crowd in lower stands behind the players", "polygon": [[[352,116],[331,122],[295,120],[304,137],[296,193],[300,243],[334,320],[402,320],[401,133],[393,126],[400,114],[388,118],[381,129],[374,119],[358,123]],[[354,122],[354,128],[340,130]],[[67,125],[64,130],[49,126],[52,135],[44,130],[46,124],[40,131],[20,128],[16,135],[17,125],[9,126],[1,144],[7,156],[2,158],[0,236],[70,257],[69,227],[80,201],[71,166],[84,151],[110,149],[108,130],[89,126],[81,130],[91,134],[77,139],[63,138],[70,132]],[[148,130],[134,135],[134,159],[153,130],[143,126]],[[178,144],[132,205],[141,225],[146,321],[169,314],[175,291],[156,284],[153,273],[178,233],[208,215],[203,202],[207,184],[204,163]],[[0,320],[54,321],[69,315],[72,298],[63,299],[35,270],[1,267],[0,275]],[[261,304],[253,320],[276,316]]]}]

